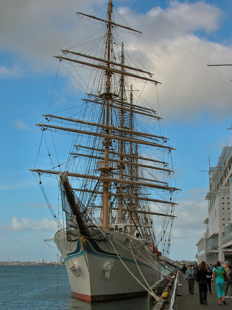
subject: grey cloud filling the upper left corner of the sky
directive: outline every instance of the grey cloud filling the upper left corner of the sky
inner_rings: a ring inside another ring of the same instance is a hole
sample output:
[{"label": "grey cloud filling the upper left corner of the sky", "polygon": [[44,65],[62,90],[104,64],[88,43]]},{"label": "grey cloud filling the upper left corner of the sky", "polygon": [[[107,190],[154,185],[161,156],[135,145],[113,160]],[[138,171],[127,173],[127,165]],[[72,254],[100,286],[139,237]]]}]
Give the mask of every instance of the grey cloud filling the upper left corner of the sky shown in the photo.
[{"label": "grey cloud filling the upper left corner of the sky", "polygon": [[[101,0],[24,0],[0,2],[2,51],[17,52],[27,66],[43,71],[55,67],[52,55],[76,43],[79,28],[76,11],[94,11]],[[13,59],[13,57],[12,57]]]}]

